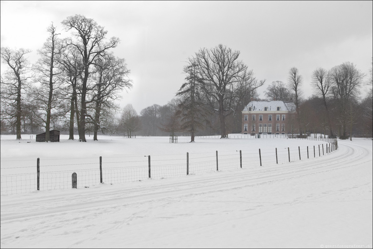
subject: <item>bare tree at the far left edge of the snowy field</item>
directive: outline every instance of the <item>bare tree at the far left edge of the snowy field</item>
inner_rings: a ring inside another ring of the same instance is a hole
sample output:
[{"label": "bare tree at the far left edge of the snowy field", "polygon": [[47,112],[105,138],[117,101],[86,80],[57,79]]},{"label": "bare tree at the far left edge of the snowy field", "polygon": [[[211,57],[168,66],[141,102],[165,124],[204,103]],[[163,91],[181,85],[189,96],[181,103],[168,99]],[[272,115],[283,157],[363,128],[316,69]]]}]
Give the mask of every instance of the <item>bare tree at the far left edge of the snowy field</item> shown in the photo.
[{"label": "bare tree at the far left edge of the snowy field", "polygon": [[2,118],[16,118],[16,139],[21,139],[22,93],[28,80],[29,62],[25,57],[31,50],[1,47],[1,59],[9,69],[1,77],[1,105],[8,106]]}]

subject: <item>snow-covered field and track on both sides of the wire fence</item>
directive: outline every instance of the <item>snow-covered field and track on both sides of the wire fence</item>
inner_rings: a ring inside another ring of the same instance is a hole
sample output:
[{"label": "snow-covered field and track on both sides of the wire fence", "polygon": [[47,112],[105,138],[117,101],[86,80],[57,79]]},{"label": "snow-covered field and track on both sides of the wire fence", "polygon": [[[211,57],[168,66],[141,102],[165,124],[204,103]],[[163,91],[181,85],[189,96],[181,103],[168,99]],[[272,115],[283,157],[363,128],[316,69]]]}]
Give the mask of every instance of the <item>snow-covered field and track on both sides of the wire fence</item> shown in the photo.
[{"label": "snow-covered field and track on both sides of the wire fence", "polygon": [[[99,156],[104,160],[147,159],[144,155],[161,160],[186,152],[209,156],[216,150],[257,153],[258,149],[266,152],[290,147],[296,152],[298,146],[325,143],[286,138],[198,138],[196,143],[188,143],[189,138],[181,137],[172,144],[167,137],[104,136],[98,142],[79,143],[62,137],[60,143],[35,143],[35,137],[25,138],[19,143],[12,137],[1,137],[1,175],[34,172],[38,157],[41,162],[87,161]],[[372,140],[338,140],[338,145],[338,150],[324,156],[313,158],[312,153],[307,159],[303,150],[301,160],[294,156],[291,162],[264,161],[267,165],[262,167],[2,194],[0,245],[372,248]]]}]

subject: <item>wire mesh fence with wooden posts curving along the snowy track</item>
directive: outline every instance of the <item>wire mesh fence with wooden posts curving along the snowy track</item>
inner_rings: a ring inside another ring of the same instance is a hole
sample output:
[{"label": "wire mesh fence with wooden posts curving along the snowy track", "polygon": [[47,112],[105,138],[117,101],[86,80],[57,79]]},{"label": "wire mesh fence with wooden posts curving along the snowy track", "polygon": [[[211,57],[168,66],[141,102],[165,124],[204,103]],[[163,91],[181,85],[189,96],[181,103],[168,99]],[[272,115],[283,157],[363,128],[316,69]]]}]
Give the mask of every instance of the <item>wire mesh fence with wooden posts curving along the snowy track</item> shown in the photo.
[{"label": "wire mesh fence with wooden posts curving along the snowy track", "polygon": [[[285,164],[323,156],[338,149],[336,139],[316,146],[264,150],[236,150],[102,158],[62,158],[1,161],[1,194],[19,194],[37,190],[91,187],[100,183],[116,184],[146,179],[205,174],[237,168]],[[36,164],[30,166],[30,164]],[[12,173],[22,170],[24,173]],[[6,174],[3,174],[6,172]],[[72,174],[76,173],[76,180]],[[74,182],[76,181],[75,185]]]}]

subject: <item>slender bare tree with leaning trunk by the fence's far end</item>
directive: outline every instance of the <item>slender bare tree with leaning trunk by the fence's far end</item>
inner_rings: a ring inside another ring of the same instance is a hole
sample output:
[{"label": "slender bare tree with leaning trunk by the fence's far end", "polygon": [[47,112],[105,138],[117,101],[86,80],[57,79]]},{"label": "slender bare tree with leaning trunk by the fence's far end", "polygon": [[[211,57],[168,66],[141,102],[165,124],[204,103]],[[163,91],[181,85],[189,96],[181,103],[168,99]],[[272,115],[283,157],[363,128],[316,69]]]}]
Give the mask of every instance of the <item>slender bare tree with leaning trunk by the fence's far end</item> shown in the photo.
[{"label": "slender bare tree with leaning trunk by the fence's far end", "polygon": [[316,68],[312,72],[311,78],[311,85],[313,87],[314,93],[317,96],[321,96],[323,98],[324,107],[326,109],[327,122],[329,124],[329,134],[331,137],[333,137],[332,121],[330,119],[328,105],[326,102],[327,96],[329,94],[328,91],[331,87],[331,81],[328,76],[328,72],[324,68]]}]

